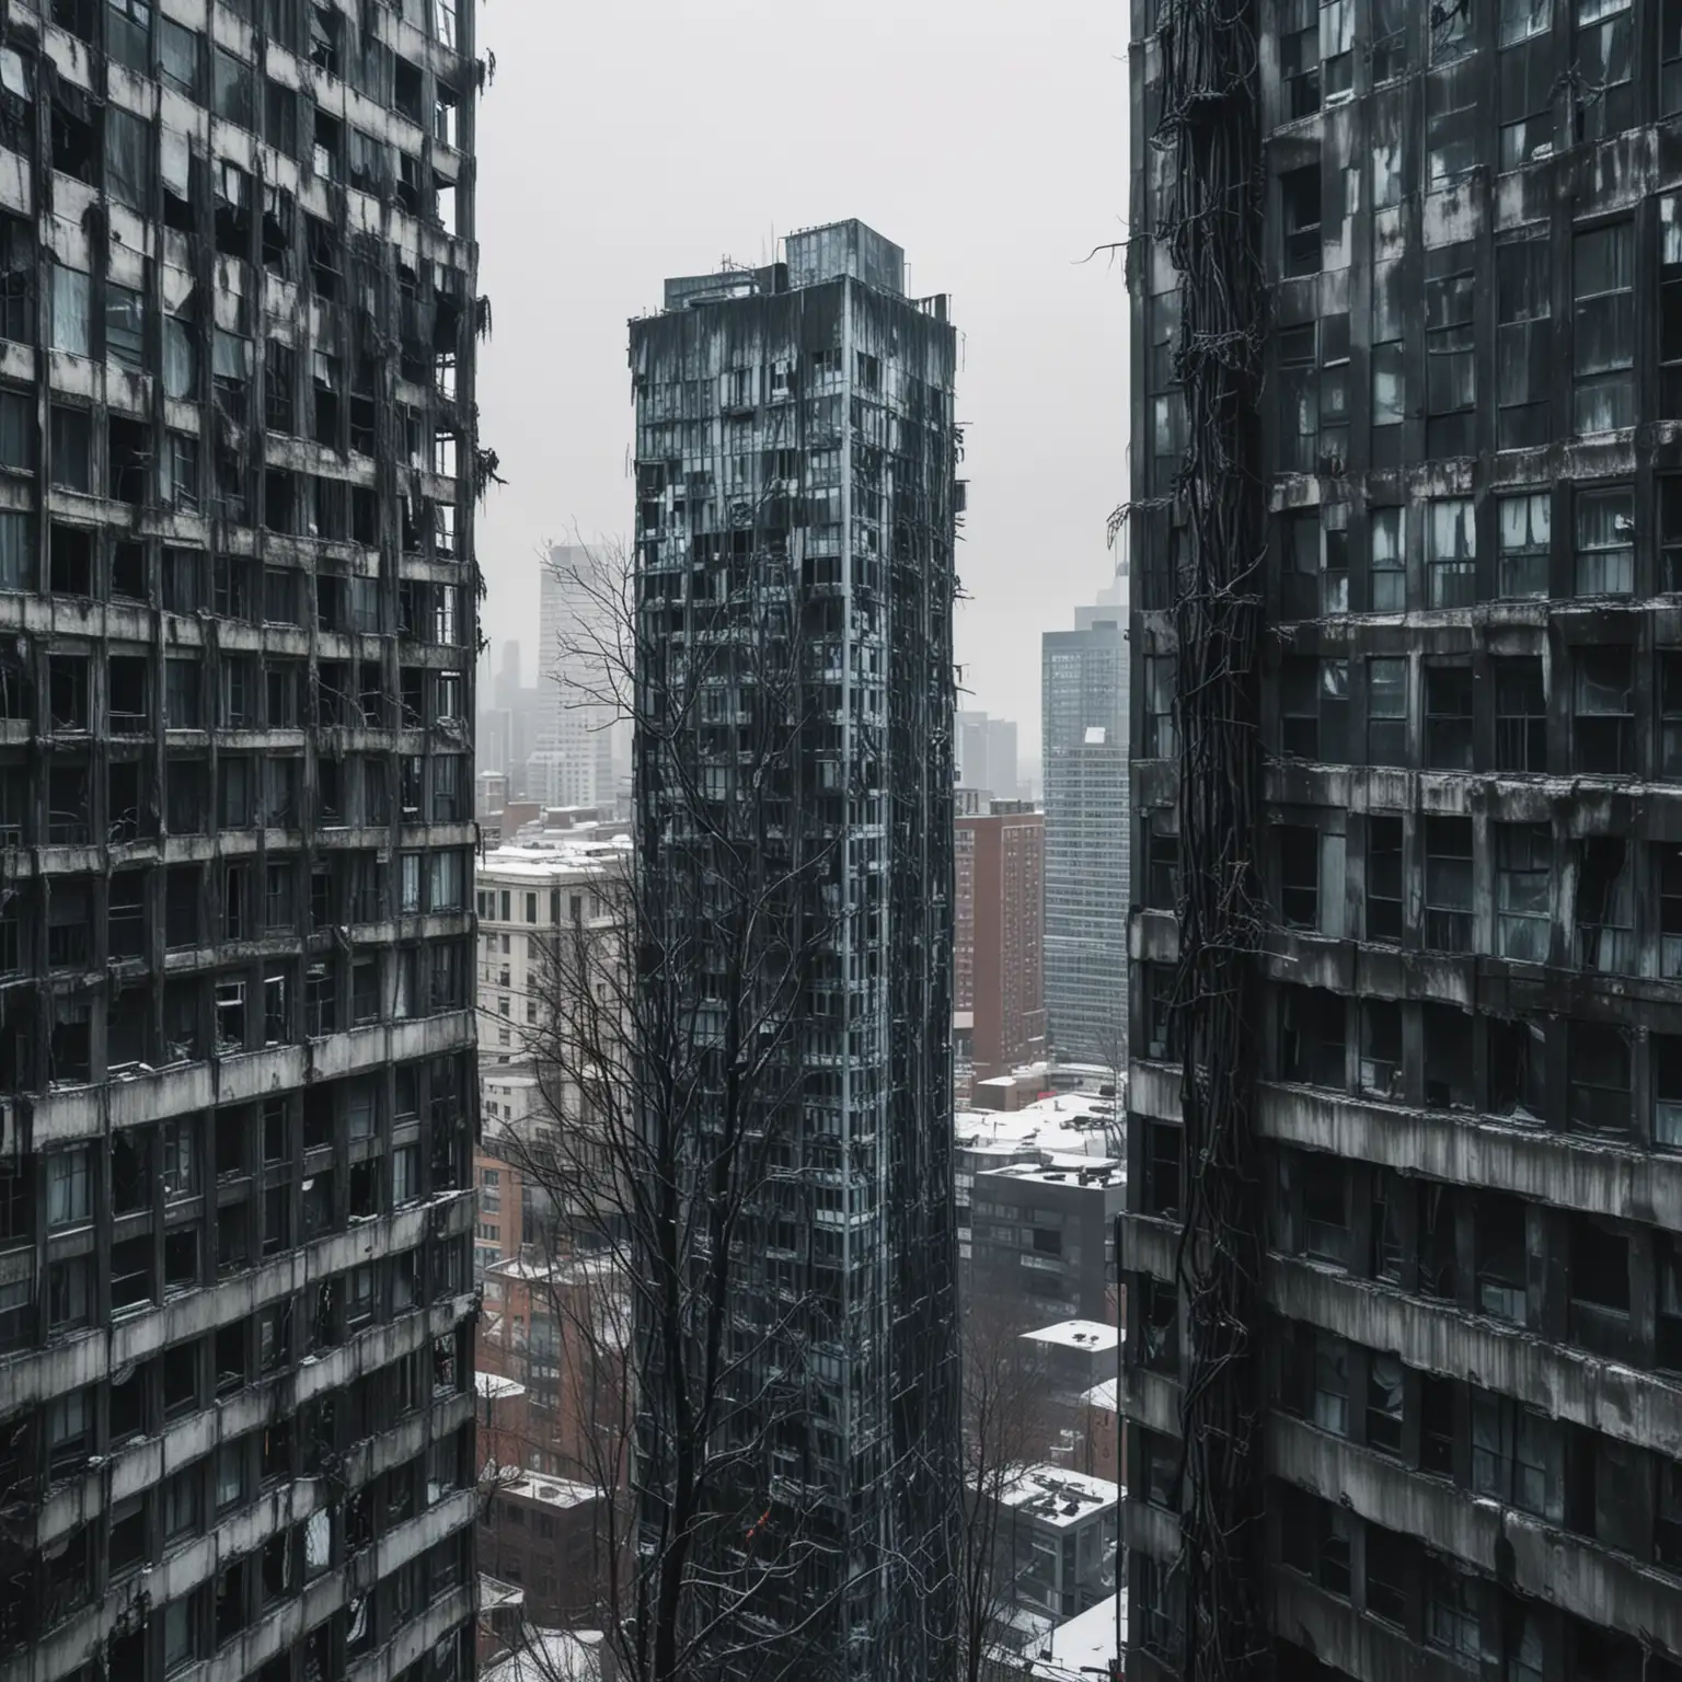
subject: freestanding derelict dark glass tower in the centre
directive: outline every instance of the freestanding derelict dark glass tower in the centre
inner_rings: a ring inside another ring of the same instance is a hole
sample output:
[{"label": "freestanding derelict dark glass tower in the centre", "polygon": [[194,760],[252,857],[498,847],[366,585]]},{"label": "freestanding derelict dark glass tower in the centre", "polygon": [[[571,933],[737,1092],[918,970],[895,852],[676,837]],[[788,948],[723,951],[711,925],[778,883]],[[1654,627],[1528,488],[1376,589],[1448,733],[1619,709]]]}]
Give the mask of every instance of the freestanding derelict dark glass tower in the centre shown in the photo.
[{"label": "freestanding derelict dark glass tower in the centre", "polygon": [[[900,249],[843,222],[764,269],[668,281],[631,365],[648,915],[685,954],[695,1033],[725,1045],[747,999],[764,1048],[752,1119],[703,1058],[717,1108],[691,1137],[748,1125],[777,1164],[745,1193],[765,1260],[730,1304],[733,1383],[759,1398],[735,1428],[774,1448],[742,1531],[807,1542],[745,1610],[765,1640],[799,1625],[836,1674],[942,1677],[955,335],[944,298],[905,296]],[[747,984],[743,950],[764,965]],[[775,1426],[767,1362],[804,1386]]]}]

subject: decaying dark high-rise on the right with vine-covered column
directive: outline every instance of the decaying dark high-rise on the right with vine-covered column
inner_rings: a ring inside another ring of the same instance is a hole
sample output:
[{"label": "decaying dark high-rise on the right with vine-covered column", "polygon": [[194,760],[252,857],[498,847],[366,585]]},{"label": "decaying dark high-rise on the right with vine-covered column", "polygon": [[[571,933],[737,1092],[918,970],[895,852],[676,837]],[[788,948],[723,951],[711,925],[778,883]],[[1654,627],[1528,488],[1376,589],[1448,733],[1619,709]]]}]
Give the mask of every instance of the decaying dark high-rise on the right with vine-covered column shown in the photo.
[{"label": "decaying dark high-rise on the right with vine-covered column", "polygon": [[1130,1682],[1682,1674],[1679,30],[1134,5]]}]

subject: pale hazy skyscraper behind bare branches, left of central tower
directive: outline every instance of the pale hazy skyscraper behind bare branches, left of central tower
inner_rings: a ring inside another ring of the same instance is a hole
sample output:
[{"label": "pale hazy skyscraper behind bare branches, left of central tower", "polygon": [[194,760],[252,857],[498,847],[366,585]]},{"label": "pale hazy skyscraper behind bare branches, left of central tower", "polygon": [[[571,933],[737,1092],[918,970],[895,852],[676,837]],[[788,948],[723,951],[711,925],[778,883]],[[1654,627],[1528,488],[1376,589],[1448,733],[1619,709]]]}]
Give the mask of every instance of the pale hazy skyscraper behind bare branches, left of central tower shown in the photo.
[{"label": "pale hazy skyscraper behind bare branches, left of central tower", "polygon": [[538,590],[537,750],[526,765],[526,797],[543,806],[611,806],[614,713],[592,700],[600,661],[590,653],[602,604],[590,590],[592,557],[555,543]]}]

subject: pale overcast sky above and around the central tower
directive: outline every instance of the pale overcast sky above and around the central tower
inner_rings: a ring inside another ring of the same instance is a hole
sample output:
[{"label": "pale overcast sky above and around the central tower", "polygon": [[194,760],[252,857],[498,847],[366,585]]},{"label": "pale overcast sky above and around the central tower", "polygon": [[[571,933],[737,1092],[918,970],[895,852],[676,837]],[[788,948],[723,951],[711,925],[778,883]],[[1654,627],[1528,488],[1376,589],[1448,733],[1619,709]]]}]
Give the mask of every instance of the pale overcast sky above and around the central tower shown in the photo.
[{"label": "pale overcast sky above and around the central tower", "polygon": [[1098,0],[486,0],[484,631],[537,659],[535,550],[631,525],[626,321],[668,274],[861,217],[952,298],[960,705],[1038,762],[1039,632],[1110,580],[1125,495],[1125,8]]}]

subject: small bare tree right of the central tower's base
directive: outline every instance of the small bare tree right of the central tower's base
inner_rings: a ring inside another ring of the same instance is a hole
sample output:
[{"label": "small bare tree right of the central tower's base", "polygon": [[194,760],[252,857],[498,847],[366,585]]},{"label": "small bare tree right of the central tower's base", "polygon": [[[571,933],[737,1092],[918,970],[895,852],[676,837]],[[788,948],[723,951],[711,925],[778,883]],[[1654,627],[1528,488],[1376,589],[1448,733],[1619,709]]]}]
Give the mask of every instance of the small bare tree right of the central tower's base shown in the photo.
[{"label": "small bare tree right of the central tower's base", "polygon": [[1004,1497],[1046,1460],[1055,1430],[1045,1374],[1023,1339],[1031,1324],[997,1302],[971,1302],[964,1310],[962,1682],[986,1682],[1001,1625],[1016,1606],[1013,1566],[1004,1558]]}]

